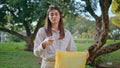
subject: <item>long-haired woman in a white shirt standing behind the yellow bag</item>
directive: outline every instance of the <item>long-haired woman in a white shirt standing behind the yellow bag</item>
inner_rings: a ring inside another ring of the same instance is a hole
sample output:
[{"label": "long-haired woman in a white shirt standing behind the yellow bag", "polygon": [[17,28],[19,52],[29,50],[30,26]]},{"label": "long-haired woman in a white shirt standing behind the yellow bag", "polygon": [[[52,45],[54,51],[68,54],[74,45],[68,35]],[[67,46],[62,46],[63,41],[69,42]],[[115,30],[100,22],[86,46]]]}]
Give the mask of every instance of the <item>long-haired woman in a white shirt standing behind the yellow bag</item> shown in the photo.
[{"label": "long-haired woman in a white shirt standing behind the yellow bag", "polygon": [[77,51],[71,33],[64,29],[62,14],[51,5],[46,25],[39,29],[34,41],[34,54],[42,58],[41,68],[54,68],[56,50]]}]

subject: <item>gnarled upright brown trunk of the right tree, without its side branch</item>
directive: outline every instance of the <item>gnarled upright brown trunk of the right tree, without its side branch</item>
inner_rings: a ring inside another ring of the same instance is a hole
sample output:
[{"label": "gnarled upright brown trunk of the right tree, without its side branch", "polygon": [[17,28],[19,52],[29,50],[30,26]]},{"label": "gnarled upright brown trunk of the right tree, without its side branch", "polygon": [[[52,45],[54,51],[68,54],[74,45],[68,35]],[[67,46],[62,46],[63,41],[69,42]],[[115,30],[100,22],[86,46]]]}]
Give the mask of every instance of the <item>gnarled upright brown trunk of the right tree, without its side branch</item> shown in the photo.
[{"label": "gnarled upright brown trunk of the right tree, without its side branch", "polygon": [[88,49],[90,56],[88,58],[90,65],[95,65],[95,58],[100,55],[100,49],[107,41],[109,32],[109,16],[108,9],[112,0],[99,0],[102,15],[96,19],[94,43]]}]

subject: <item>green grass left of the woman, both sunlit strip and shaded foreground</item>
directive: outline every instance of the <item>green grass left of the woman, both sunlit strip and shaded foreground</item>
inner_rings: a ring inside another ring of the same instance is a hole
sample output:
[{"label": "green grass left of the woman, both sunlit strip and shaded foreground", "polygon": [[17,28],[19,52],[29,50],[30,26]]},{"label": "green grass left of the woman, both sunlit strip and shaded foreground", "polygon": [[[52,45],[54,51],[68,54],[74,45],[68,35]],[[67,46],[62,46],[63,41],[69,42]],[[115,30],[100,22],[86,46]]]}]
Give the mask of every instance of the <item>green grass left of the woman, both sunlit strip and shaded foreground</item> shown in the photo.
[{"label": "green grass left of the woman, both sunlit strip and shaded foreground", "polygon": [[40,58],[24,51],[24,42],[0,43],[0,68],[40,68]]}]

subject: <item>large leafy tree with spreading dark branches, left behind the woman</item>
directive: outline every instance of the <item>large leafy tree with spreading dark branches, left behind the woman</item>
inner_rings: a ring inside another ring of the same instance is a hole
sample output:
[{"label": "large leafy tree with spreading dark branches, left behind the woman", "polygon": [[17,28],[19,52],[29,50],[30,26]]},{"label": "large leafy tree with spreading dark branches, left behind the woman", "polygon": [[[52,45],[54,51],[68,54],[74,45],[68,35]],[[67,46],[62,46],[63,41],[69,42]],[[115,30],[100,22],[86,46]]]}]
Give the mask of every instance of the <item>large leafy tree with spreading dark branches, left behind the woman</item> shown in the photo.
[{"label": "large leafy tree with spreading dark branches, left behind the woman", "polygon": [[[0,31],[21,38],[26,42],[26,50],[31,51],[36,33],[44,25],[50,4],[58,3],[58,6],[64,9],[63,16],[74,11],[71,9],[74,7],[74,0],[60,2],[61,4],[57,0],[0,0]],[[35,22],[37,24],[33,27]]]}]

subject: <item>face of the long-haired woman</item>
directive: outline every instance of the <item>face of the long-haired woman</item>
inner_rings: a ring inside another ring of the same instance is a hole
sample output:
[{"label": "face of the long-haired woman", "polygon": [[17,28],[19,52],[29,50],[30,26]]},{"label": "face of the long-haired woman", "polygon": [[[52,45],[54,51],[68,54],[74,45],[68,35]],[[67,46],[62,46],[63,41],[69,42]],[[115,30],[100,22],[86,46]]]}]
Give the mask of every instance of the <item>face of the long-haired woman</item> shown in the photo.
[{"label": "face of the long-haired woman", "polygon": [[60,13],[58,12],[58,10],[51,10],[49,12],[49,19],[52,24],[58,24],[60,21]]}]

